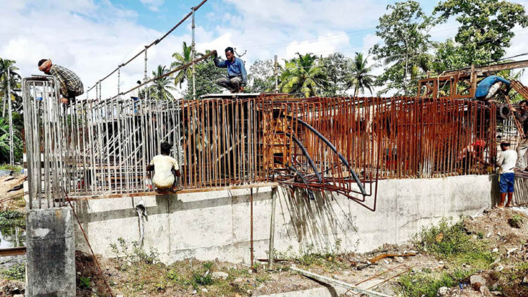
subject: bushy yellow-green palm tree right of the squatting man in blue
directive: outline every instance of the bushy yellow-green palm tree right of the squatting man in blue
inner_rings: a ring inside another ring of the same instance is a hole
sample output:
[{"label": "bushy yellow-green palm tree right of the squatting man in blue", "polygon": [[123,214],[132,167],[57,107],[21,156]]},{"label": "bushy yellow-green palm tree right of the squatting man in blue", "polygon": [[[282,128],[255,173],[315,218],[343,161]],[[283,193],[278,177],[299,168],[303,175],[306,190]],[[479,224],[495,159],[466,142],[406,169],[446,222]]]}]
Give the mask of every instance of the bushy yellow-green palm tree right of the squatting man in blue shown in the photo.
[{"label": "bushy yellow-green palm tree right of the squatting man in blue", "polygon": [[315,96],[324,79],[319,59],[313,53],[296,53],[298,58],[286,61],[280,77],[279,89],[286,93],[303,93],[304,96]]}]

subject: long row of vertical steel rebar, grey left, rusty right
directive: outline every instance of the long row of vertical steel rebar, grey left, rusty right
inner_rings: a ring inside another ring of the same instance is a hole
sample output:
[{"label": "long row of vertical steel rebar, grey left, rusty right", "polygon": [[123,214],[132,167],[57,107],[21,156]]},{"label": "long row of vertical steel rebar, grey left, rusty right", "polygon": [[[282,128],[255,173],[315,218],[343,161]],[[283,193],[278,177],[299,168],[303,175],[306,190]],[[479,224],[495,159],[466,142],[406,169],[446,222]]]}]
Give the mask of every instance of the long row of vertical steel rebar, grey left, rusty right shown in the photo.
[{"label": "long row of vertical steel rebar, grey left, rusty right", "polygon": [[371,210],[380,178],[485,174],[496,155],[495,107],[476,101],[159,101],[146,91],[65,106],[53,77],[26,78],[23,88],[30,208],[63,205],[63,191],[73,199],[153,191],[146,165],[162,141],[175,144],[183,189],[276,181],[310,198],[334,191]]}]

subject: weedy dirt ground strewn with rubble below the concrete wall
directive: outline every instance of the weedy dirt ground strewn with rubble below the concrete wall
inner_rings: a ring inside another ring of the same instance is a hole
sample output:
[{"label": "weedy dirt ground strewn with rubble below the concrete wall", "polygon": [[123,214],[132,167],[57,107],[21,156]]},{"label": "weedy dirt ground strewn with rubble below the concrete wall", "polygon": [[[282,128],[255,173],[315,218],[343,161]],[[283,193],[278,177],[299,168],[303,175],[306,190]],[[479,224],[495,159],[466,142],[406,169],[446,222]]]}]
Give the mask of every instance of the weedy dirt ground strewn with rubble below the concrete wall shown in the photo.
[{"label": "weedy dirt ground strewn with rubble below the concrete wall", "polygon": [[[108,296],[103,279],[114,296],[260,296],[322,286],[289,270],[292,265],[389,296],[528,296],[527,213],[528,208],[494,209],[463,220],[464,236],[484,247],[493,257],[491,264],[444,258],[407,244],[384,245],[363,254],[277,255],[287,260],[276,263],[270,271],[267,263],[247,267],[186,259],[163,265],[155,254],[128,246],[120,258],[98,258],[102,274],[91,255],[77,252],[77,296]],[[446,241],[443,236],[436,236],[436,241]],[[386,254],[389,256],[383,258]],[[429,282],[428,278],[462,270],[470,274],[451,282],[451,286],[432,286],[433,292],[417,295],[403,289],[403,278],[410,279],[413,286],[422,282],[420,277]],[[480,277],[478,282],[476,277]],[[0,296],[9,296],[8,288],[19,288],[20,283],[12,282],[4,280],[2,287],[6,289],[0,289]],[[358,295],[349,292],[346,296]]]}]

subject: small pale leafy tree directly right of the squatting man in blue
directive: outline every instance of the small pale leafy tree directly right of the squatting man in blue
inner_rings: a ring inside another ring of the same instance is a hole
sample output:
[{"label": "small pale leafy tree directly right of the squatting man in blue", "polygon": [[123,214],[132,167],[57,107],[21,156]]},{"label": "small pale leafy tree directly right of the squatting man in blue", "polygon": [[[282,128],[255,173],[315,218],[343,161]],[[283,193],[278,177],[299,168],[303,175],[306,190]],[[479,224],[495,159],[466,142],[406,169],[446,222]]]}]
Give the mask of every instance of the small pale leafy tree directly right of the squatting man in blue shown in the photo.
[{"label": "small pale leafy tree directly right of the squatting man in blue", "polygon": [[[271,59],[257,60],[249,68],[246,90],[265,92],[275,90],[275,63]],[[280,69],[277,69],[279,71]]]}]

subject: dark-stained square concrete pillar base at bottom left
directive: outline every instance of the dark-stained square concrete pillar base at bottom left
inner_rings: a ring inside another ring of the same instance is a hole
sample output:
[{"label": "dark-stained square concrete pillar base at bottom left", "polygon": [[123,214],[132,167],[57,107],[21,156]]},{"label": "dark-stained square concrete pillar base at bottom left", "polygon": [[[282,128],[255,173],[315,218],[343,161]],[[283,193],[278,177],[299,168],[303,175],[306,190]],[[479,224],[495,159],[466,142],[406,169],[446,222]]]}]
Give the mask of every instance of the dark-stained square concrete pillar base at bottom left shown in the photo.
[{"label": "dark-stained square concrete pillar base at bottom left", "polygon": [[75,296],[71,208],[30,210],[26,220],[26,296]]}]

